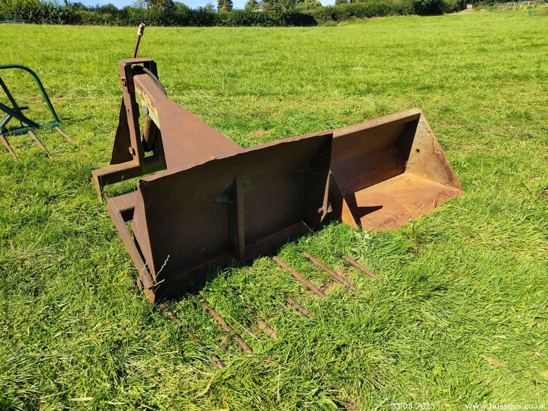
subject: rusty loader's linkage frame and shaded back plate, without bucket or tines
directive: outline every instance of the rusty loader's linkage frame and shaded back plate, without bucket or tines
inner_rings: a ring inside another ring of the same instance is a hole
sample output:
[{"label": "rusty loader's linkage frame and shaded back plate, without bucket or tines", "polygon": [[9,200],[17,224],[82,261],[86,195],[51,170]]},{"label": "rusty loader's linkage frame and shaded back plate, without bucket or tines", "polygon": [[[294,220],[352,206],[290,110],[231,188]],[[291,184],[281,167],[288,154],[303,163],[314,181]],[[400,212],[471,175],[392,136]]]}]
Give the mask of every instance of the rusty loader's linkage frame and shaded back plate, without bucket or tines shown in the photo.
[{"label": "rusty loader's linkage frame and shaded back plate, without bucket or tines", "polygon": [[[107,184],[167,169],[108,201],[151,301],[198,283],[209,267],[248,261],[317,229],[328,210],[331,131],[243,149],[168,99],[154,61],[121,60],[119,71],[111,165],[93,178],[102,198]],[[147,116],[142,137],[136,95]]]}]

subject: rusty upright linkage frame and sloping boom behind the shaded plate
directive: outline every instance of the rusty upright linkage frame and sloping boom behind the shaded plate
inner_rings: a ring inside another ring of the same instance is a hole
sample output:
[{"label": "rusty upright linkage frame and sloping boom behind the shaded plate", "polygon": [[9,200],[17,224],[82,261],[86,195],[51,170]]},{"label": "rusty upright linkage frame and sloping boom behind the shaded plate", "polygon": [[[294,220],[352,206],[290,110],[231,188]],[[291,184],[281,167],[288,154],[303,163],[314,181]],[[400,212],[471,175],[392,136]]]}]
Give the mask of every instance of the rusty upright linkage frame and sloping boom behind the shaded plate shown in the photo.
[{"label": "rusty upright linkage frame and sloping boom behind the shaded plate", "polygon": [[[141,66],[142,65],[142,66]],[[104,187],[124,180],[173,169],[215,155],[243,151],[206,122],[170,100],[157,81],[156,62],[149,58],[120,60],[123,92],[110,165],[93,171],[100,200]],[[152,75],[152,76],[151,76]],[[145,129],[139,127],[139,96],[145,111]],[[149,141],[151,156],[145,157]]]}]

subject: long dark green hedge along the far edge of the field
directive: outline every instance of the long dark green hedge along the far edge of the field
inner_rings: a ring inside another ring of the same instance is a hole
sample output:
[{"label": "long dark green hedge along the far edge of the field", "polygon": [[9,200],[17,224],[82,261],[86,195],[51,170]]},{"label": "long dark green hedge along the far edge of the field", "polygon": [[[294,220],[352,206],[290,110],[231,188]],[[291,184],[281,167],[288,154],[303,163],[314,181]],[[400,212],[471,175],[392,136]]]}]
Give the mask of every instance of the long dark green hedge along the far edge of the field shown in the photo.
[{"label": "long dark green hedge along the far edge of the field", "polygon": [[206,9],[151,10],[112,5],[83,7],[60,6],[38,0],[0,0],[2,16],[17,15],[28,23],[68,25],[136,26],[144,22],[148,26],[316,26],[327,22],[372,18],[390,15],[432,15],[460,10],[464,0],[401,0],[388,3],[371,0],[344,3],[309,10],[293,9],[287,12],[248,12],[233,10],[215,13]]}]

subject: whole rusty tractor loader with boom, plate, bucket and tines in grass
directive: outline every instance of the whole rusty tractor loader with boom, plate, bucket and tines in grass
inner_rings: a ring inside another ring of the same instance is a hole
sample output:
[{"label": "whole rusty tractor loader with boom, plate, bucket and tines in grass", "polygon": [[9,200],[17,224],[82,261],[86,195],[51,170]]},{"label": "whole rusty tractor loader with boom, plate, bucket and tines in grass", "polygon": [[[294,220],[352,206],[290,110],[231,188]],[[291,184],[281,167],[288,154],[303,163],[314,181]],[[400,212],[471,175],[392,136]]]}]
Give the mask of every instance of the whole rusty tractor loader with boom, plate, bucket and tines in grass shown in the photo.
[{"label": "whole rusty tractor loader with boom, plate, bucket and tines in grass", "polygon": [[[139,272],[138,287],[196,343],[202,341],[159,301],[161,296],[196,287],[211,269],[269,255],[318,298],[326,298],[271,253],[318,229],[332,209],[351,226],[393,230],[463,193],[424,113],[416,109],[243,149],[168,98],[156,63],[136,58],[143,28],[134,58],[119,62],[123,98],[111,161],[94,170],[93,179],[102,199],[106,185],[160,172],[140,178],[136,191],[109,198],[107,206]],[[142,132],[137,96],[145,116]],[[356,291],[306,250],[301,253]],[[350,256],[339,256],[371,281],[378,278]],[[292,296],[284,297],[311,316]],[[242,350],[252,352],[207,301],[202,303]],[[277,339],[253,307],[248,309],[258,327]],[[213,353],[210,358],[224,367]]]}]

